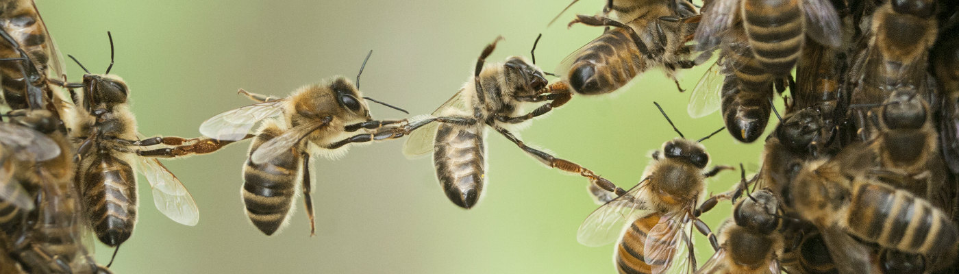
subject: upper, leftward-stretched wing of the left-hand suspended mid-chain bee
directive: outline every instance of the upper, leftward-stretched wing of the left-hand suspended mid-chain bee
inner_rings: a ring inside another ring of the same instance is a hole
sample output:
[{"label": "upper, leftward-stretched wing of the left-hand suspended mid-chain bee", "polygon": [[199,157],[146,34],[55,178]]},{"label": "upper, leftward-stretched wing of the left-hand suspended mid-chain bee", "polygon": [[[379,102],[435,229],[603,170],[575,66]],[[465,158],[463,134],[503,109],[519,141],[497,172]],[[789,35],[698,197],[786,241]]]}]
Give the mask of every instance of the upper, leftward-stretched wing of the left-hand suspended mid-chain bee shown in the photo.
[{"label": "upper, leftward-stretched wing of the left-hand suspended mid-chain bee", "polygon": [[254,103],[211,117],[199,126],[203,136],[223,141],[239,141],[264,119],[283,113],[286,100]]}]

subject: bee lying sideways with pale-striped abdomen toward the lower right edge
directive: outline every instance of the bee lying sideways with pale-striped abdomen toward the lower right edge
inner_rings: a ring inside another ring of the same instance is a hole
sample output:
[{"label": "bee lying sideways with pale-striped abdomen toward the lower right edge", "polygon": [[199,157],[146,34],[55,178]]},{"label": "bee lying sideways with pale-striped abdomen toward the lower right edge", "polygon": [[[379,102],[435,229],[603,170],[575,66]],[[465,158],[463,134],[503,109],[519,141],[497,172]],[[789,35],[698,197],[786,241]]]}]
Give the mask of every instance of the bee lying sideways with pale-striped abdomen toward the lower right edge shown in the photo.
[{"label": "bee lying sideways with pale-striped abdomen toward the lower right edge", "polygon": [[[850,148],[855,147],[845,149]],[[837,157],[809,162],[791,187],[796,211],[823,232],[835,262],[869,268],[868,258],[836,260],[837,255],[868,252],[850,252],[865,248],[855,246],[856,240],[850,237],[854,236],[880,247],[921,254],[930,269],[952,263],[959,252],[959,230],[946,213],[922,197],[881,182],[867,169],[846,167],[847,158]],[[893,179],[885,176],[882,181]]]}]

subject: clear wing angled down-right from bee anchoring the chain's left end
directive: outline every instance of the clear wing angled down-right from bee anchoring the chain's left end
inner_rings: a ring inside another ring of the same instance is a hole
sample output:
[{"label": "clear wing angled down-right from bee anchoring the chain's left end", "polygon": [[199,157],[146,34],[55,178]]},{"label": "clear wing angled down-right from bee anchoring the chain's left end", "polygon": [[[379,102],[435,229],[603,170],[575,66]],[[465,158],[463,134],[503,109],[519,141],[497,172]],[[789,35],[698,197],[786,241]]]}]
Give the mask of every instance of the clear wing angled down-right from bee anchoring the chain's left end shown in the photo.
[{"label": "clear wing angled down-right from bee anchoring the chain's left end", "polygon": [[138,157],[143,176],[153,190],[153,205],[163,215],[185,225],[197,225],[199,209],[193,195],[186,191],[174,173],[167,170],[156,158]]}]

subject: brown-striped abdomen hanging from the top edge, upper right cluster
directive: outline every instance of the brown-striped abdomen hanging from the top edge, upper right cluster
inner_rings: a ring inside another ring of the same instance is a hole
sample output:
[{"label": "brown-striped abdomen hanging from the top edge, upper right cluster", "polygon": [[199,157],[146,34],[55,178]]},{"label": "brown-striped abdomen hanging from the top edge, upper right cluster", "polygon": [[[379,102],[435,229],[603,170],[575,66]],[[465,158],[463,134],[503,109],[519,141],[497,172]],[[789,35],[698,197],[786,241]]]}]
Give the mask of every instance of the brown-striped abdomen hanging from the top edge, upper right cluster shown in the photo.
[{"label": "brown-striped abdomen hanging from the top edge, upper right cluster", "polygon": [[753,54],[772,75],[789,74],[806,40],[800,0],[744,0],[743,29]]}]

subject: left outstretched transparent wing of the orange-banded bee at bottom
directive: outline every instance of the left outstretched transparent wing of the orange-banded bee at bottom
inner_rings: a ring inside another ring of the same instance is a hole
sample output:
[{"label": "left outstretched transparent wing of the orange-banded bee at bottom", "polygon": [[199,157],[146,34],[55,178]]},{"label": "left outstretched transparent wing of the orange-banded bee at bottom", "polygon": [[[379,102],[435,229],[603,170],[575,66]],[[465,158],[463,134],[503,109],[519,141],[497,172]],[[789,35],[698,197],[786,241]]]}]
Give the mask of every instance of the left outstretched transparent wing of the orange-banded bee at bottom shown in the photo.
[{"label": "left outstretched transparent wing of the orange-banded bee at bottom", "polygon": [[618,240],[627,223],[651,212],[642,199],[647,181],[643,179],[626,194],[599,206],[579,225],[576,240],[586,246],[602,246]]}]

